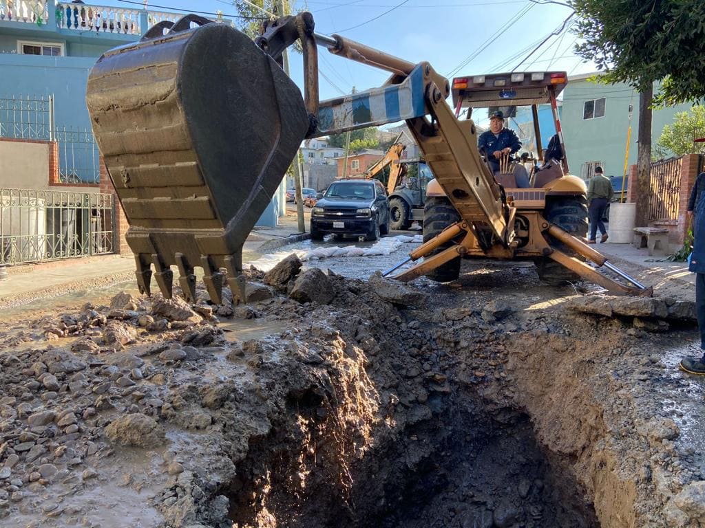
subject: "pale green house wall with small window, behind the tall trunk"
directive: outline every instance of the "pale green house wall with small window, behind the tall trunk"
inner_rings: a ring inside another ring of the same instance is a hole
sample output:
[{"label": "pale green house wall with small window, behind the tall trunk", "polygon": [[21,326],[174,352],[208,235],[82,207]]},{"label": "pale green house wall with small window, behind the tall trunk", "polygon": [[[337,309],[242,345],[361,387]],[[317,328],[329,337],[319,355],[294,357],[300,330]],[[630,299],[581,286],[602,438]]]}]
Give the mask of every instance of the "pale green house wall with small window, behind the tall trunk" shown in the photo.
[{"label": "pale green house wall with small window, behind the tall trunk", "polygon": [[[654,92],[658,87],[654,87]],[[605,98],[602,118],[583,119],[584,102]],[[637,163],[637,130],[639,130],[639,94],[623,82],[596,84],[587,79],[570,80],[563,90],[563,139],[571,174],[580,175],[584,163],[601,161],[605,175],[620,176],[624,170],[629,105],[633,105],[632,138],[628,164]],[[691,104],[654,109],[651,134],[656,144],[665,125],[673,122],[675,113],[688,111]]]}]

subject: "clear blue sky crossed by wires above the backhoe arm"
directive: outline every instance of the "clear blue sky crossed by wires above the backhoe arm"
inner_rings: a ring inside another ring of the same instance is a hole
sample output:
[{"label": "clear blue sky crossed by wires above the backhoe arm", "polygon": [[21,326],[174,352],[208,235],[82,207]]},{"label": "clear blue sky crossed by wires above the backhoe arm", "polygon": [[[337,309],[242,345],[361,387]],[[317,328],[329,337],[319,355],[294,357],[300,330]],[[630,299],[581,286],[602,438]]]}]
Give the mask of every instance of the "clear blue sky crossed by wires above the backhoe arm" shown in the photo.
[{"label": "clear blue sky crossed by wires above the backhoe arm", "polygon": [[[138,6],[119,0],[100,3],[139,8],[142,1]],[[147,8],[237,14],[228,0],[149,1]],[[569,8],[558,4],[529,0],[295,0],[293,8],[311,11],[318,33],[340,33],[407,61],[429,61],[448,77],[511,71],[517,65],[517,71],[567,70],[572,75],[596,69],[573,54],[575,35],[570,32],[549,38],[520,65],[570,15]],[[510,27],[503,29],[507,25]],[[480,51],[482,46],[486,46],[484,51]],[[376,87],[388,77],[384,71],[319,50],[321,99],[348,94],[353,86],[358,90]],[[301,85],[300,56],[290,54],[290,63],[292,77]]]}]

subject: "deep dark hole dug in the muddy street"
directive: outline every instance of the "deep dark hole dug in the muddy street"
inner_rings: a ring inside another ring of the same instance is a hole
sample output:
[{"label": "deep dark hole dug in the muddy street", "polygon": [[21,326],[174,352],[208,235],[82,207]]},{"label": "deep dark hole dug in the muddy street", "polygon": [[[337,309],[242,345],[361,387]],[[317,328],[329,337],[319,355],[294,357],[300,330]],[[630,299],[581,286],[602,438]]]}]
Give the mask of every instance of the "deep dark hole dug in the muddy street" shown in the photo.
[{"label": "deep dark hole dug in the muddy street", "polygon": [[[505,398],[505,376],[474,372],[489,384],[462,384],[457,364],[455,373],[424,372],[434,360],[457,363],[457,348],[423,329],[384,328],[357,339],[354,352],[341,341],[353,357],[336,371],[348,374],[335,379],[329,368],[320,383],[290,391],[269,433],[250,438],[222,491],[233,526],[600,526],[574,458],[541,446],[532,416]],[[494,354],[479,347],[473,356]],[[420,376],[409,370],[415,360]]]}]

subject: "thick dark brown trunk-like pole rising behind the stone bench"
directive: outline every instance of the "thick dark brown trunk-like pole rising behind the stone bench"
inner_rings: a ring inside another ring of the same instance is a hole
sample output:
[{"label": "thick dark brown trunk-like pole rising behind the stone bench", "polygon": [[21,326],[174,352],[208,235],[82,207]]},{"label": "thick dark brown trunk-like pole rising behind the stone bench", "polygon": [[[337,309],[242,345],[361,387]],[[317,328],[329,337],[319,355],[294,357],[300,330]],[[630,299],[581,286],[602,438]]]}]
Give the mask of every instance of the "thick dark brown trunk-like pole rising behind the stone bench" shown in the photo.
[{"label": "thick dark brown trunk-like pole rising behind the stone bench", "polygon": [[654,98],[654,85],[639,93],[639,138],[637,139],[637,214],[635,227],[649,223],[649,195],[651,194],[651,99]]}]

